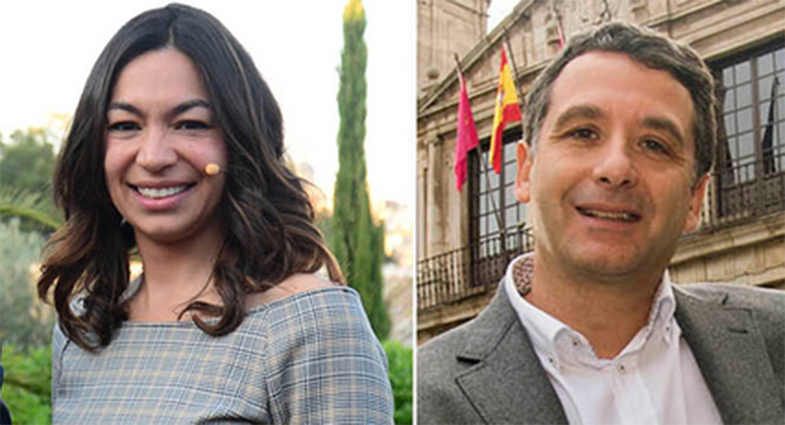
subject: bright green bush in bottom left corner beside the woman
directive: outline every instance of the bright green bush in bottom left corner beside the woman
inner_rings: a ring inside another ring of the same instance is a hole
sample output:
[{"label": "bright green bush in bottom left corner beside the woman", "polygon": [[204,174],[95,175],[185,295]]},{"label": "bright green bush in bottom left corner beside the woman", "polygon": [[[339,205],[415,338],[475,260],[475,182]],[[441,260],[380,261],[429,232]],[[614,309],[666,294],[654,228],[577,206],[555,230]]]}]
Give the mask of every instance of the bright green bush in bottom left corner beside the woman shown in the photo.
[{"label": "bright green bush in bottom left corner beside the woman", "polygon": [[17,351],[4,345],[2,398],[14,425],[44,425],[52,416],[52,347]]}]

